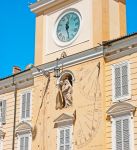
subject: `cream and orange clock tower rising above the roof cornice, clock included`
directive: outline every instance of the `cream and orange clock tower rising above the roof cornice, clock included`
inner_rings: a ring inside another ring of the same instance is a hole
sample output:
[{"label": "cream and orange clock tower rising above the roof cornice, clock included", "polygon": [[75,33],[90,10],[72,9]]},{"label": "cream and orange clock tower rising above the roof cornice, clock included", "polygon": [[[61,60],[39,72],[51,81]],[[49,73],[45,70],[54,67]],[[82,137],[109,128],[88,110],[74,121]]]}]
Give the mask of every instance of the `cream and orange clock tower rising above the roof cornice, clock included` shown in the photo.
[{"label": "cream and orange clock tower rising above the roof cornice, clock included", "polygon": [[35,65],[92,49],[126,34],[125,0],[39,0]]}]

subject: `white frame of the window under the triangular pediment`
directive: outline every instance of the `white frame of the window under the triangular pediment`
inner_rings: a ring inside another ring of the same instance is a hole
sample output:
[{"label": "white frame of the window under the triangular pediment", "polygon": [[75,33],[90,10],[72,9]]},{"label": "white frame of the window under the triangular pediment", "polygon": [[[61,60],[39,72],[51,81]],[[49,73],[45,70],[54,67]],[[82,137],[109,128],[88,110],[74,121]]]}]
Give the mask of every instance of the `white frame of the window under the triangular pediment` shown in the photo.
[{"label": "white frame of the window under the triangular pediment", "polygon": [[71,147],[70,150],[73,150],[73,143],[72,143],[73,126],[72,125],[57,128],[57,150],[60,150],[60,131],[66,129],[70,129],[70,147]]}]

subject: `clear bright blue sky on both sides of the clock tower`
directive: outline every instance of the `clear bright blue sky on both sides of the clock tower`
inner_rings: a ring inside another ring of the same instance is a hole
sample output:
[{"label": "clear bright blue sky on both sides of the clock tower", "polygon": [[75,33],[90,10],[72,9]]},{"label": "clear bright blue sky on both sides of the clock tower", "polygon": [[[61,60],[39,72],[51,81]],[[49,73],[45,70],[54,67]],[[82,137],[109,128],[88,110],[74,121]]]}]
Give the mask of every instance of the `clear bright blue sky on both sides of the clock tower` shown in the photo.
[{"label": "clear bright blue sky on both sides of the clock tower", "polygon": [[[30,12],[28,2],[1,0],[0,78],[11,75],[14,65],[24,70],[34,61],[35,15]],[[137,32],[137,0],[127,0],[127,31]]]}]

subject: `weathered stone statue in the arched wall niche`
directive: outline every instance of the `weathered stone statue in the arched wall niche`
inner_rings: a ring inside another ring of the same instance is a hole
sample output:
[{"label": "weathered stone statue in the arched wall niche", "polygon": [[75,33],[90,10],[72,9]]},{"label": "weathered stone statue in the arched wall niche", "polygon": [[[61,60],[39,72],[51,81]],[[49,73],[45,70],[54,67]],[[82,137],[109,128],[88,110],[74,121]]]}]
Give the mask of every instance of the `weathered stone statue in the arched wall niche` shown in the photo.
[{"label": "weathered stone statue in the arched wall niche", "polygon": [[69,78],[61,80],[56,97],[56,109],[67,108],[72,105],[72,82]]}]

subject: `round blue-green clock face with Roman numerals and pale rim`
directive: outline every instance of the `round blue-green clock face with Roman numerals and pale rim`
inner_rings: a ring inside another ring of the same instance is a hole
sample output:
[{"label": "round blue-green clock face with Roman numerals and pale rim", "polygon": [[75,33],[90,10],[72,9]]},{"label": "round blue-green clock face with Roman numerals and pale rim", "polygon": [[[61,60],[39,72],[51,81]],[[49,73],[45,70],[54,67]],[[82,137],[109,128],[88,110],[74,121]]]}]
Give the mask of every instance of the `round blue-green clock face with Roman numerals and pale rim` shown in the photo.
[{"label": "round blue-green clock face with Roman numerals and pale rim", "polygon": [[81,17],[78,12],[68,11],[57,21],[56,37],[60,43],[70,44],[80,30]]}]

